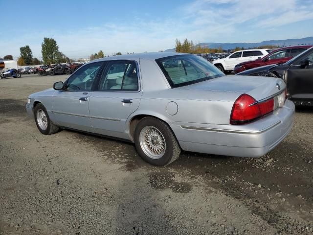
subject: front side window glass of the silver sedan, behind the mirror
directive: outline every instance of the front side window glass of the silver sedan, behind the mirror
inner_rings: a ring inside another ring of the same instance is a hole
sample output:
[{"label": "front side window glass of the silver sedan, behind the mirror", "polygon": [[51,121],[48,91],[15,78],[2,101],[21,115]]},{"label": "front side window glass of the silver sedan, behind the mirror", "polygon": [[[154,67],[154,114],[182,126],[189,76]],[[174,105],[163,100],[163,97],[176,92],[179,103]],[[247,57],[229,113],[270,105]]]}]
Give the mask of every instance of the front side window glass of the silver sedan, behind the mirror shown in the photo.
[{"label": "front side window glass of the silver sedan, behind the mirror", "polygon": [[67,80],[67,91],[90,91],[102,62],[91,63],[74,72]]}]

